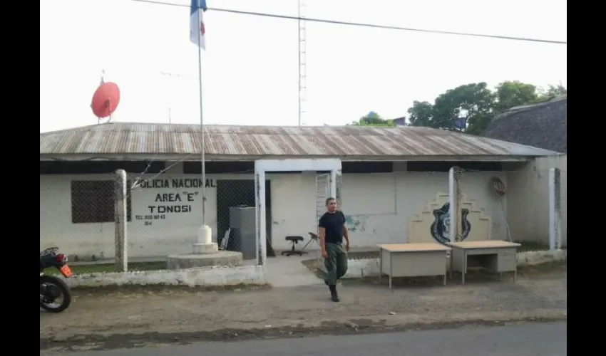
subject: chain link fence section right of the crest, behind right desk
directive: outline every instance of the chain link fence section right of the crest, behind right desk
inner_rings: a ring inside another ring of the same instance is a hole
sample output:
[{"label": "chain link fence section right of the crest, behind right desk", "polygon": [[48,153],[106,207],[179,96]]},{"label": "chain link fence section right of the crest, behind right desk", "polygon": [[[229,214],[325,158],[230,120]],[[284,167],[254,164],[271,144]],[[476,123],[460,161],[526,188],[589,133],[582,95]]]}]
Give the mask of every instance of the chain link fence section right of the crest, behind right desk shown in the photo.
[{"label": "chain link fence section right of the crest, behind right desk", "polygon": [[[566,184],[567,171],[560,169],[550,183],[550,167],[527,166],[508,171],[478,171],[461,169],[455,172],[456,194],[461,204],[461,235],[485,233],[490,239],[519,242],[521,250],[550,248],[550,194],[555,194],[555,209],[559,213],[555,231],[556,248],[566,246]],[[553,187],[558,187],[551,192]],[[483,227],[483,221],[490,221]],[[466,229],[471,227],[471,232]],[[473,231],[476,229],[476,231]],[[477,236],[474,239],[478,239]],[[459,241],[459,240],[457,240]]]}]

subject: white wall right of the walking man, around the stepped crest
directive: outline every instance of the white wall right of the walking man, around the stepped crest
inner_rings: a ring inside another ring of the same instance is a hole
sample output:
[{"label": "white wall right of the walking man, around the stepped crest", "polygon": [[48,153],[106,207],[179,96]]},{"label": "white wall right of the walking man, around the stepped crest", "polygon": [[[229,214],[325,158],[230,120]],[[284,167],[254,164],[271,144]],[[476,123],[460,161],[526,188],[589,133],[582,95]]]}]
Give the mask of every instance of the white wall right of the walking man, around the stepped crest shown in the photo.
[{"label": "white wall right of the walking man, around the stepped crest", "polygon": [[[500,201],[488,189],[489,179],[495,175],[506,182],[505,174],[498,172],[468,172],[461,179],[461,189],[468,200],[491,217],[491,239],[506,239]],[[435,199],[438,192],[448,193],[446,172],[344,174],[343,210],[351,244],[406,242],[409,218]]]}]

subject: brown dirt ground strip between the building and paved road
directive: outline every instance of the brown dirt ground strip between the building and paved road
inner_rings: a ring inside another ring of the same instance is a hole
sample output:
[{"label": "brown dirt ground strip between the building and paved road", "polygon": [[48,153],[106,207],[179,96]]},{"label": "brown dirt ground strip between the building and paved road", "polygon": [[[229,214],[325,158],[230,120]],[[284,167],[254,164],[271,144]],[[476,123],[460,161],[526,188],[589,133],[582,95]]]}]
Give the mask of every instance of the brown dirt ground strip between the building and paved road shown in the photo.
[{"label": "brown dirt ground strip between the building and paved road", "polygon": [[500,281],[470,276],[466,282],[461,286],[455,278],[446,287],[436,280],[396,283],[389,290],[376,278],[345,281],[339,286],[340,303],[329,300],[326,286],[73,290],[65,312],[41,311],[41,350],[566,319],[566,266],[520,273],[515,284],[508,276]]}]

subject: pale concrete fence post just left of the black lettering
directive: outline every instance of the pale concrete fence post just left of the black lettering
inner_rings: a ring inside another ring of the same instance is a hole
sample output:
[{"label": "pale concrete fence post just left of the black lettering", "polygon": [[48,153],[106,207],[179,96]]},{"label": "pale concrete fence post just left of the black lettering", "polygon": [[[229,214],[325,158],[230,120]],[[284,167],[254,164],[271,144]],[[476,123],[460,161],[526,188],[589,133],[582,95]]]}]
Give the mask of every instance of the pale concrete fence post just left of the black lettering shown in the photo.
[{"label": "pale concrete fence post just left of the black lettering", "polygon": [[115,171],[115,204],[114,204],[114,224],[115,224],[115,266],[118,271],[128,271],[128,251],[126,236],[126,172],[124,169]]}]

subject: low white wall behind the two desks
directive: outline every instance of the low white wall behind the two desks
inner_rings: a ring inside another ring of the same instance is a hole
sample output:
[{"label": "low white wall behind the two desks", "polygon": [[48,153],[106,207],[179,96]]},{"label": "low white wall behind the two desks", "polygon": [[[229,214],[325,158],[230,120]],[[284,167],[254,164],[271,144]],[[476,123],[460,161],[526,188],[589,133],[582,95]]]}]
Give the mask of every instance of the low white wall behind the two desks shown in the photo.
[{"label": "low white wall behind the two desks", "polygon": [[[518,266],[533,265],[548,261],[563,261],[566,259],[567,250],[559,250],[554,253],[550,251],[526,251],[518,252]],[[449,268],[448,258],[446,268]],[[343,278],[364,278],[368,276],[379,276],[379,258],[364,258],[347,261],[347,273]]]}]

